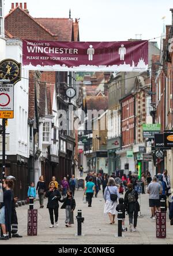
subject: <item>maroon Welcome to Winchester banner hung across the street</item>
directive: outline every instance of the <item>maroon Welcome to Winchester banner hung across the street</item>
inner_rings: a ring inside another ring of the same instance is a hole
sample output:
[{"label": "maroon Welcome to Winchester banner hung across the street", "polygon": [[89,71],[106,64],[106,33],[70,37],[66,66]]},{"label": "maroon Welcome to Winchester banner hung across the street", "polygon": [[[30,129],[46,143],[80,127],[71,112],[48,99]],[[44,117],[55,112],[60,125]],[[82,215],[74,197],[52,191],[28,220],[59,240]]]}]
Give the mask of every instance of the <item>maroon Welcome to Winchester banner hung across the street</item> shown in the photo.
[{"label": "maroon Welcome to Winchester banner hung across the street", "polygon": [[51,42],[23,40],[23,65],[40,71],[122,71],[148,68],[148,41]]}]

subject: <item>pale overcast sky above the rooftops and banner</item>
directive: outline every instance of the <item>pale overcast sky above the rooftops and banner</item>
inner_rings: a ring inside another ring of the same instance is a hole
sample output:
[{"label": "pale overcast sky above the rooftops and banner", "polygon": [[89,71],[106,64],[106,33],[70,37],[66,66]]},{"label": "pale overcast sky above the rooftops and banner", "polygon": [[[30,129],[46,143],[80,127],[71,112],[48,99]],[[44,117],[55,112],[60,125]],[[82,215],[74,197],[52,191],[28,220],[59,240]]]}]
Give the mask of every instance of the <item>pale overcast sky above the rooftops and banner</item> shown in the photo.
[{"label": "pale overcast sky above the rooftops and banner", "polygon": [[[5,15],[14,0],[5,0]],[[18,0],[32,17],[80,18],[80,41],[153,39],[163,32],[162,17],[171,24],[170,0]],[[52,24],[53,25],[53,24]],[[160,43],[160,39],[157,39]]]}]

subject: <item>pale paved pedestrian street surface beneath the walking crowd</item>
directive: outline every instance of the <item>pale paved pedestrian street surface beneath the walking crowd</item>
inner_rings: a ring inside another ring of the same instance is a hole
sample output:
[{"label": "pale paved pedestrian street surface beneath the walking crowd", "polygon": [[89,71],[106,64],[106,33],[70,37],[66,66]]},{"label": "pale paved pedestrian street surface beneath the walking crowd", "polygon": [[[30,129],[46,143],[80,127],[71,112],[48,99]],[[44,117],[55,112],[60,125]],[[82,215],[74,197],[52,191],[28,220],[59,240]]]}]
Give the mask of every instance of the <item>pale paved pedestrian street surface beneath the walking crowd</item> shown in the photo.
[{"label": "pale paved pedestrian street surface beneath the walking crowd", "polygon": [[[138,218],[138,232],[125,232],[125,238],[116,238],[117,221],[115,225],[110,225],[107,216],[103,215],[104,200],[101,192],[98,198],[93,198],[91,208],[87,204],[82,203],[83,191],[77,191],[75,198],[77,210],[82,209],[82,216],[85,218],[82,224],[82,233],[84,236],[77,237],[77,221],[74,227],[65,227],[65,210],[59,209],[59,227],[49,228],[50,218],[48,209],[46,209],[46,200],[44,201],[44,209],[39,209],[39,203],[35,203],[35,209],[38,209],[38,235],[27,236],[27,211],[28,205],[18,207],[17,215],[19,222],[19,233],[23,236],[21,239],[13,238],[8,241],[0,242],[0,244],[173,244],[173,229],[167,217],[167,239],[156,239],[156,224],[150,218],[148,208],[148,195],[142,195],[141,213],[143,218]],[[129,228],[128,218],[126,217],[126,226]]]}]

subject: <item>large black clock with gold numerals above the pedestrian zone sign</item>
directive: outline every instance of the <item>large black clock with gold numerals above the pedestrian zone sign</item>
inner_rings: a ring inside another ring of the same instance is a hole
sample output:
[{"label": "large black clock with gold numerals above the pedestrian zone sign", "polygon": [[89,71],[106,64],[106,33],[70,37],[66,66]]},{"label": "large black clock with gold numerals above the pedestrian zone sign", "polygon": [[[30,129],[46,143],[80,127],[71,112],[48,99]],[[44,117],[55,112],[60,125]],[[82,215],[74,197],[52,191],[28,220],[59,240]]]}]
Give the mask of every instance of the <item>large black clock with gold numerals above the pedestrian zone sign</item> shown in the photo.
[{"label": "large black clock with gold numerals above the pedestrian zone sign", "polygon": [[0,79],[9,79],[10,83],[17,83],[21,80],[21,64],[13,60],[0,62]]}]

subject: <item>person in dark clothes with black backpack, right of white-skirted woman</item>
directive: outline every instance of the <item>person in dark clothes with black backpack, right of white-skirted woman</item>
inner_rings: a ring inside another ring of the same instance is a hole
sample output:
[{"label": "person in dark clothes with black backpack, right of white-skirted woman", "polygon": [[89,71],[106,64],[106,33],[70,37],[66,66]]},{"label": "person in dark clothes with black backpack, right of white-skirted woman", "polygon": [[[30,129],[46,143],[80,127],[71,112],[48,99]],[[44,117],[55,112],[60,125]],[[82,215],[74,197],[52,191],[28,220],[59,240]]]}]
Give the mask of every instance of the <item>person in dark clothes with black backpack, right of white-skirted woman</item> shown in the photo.
[{"label": "person in dark clothes with black backpack, right of white-skirted woman", "polygon": [[[136,232],[138,212],[140,212],[140,205],[138,203],[138,193],[133,190],[133,184],[127,185],[128,190],[125,194],[125,206],[129,214],[130,232]],[[134,218],[134,222],[133,222]]]}]

